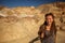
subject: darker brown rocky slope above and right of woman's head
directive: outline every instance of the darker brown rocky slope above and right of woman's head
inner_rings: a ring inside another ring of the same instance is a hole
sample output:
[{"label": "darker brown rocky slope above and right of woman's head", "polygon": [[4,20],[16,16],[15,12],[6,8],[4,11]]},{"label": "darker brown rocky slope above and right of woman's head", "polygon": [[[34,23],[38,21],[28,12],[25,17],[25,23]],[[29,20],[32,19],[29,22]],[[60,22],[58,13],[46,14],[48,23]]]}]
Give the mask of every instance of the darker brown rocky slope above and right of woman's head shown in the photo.
[{"label": "darker brown rocky slope above and right of woman's head", "polygon": [[54,2],[50,4],[42,4],[37,9],[41,10],[43,14],[53,13],[55,16],[56,26],[61,25],[62,23],[61,20],[63,20],[63,24],[64,24],[65,17],[63,16],[65,16],[65,2]]}]

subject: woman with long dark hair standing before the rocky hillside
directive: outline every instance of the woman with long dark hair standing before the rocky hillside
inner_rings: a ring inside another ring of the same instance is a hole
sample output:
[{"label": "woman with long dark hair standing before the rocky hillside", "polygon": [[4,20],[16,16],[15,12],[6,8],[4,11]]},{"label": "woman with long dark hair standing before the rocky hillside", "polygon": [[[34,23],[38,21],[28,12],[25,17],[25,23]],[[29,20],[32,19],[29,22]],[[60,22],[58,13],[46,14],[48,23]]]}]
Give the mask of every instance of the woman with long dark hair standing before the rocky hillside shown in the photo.
[{"label": "woman with long dark hair standing before the rocky hillside", "polygon": [[46,14],[46,22],[38,31],[41,43],[55,43],[56,27],[52,13]]}]

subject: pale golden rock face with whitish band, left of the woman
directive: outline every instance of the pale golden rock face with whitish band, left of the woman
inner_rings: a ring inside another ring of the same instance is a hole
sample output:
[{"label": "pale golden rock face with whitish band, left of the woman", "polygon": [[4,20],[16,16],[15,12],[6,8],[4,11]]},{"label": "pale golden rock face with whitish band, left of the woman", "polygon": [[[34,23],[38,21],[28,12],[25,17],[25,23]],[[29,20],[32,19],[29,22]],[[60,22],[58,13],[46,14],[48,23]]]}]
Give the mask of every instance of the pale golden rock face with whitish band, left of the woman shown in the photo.
[{"label": "pale golden rock face with whitish band, left of the woman", "polygon": [[38,37],[43,14],[35,8],[4,8],[0,11],[0,43],[29,43]]}]

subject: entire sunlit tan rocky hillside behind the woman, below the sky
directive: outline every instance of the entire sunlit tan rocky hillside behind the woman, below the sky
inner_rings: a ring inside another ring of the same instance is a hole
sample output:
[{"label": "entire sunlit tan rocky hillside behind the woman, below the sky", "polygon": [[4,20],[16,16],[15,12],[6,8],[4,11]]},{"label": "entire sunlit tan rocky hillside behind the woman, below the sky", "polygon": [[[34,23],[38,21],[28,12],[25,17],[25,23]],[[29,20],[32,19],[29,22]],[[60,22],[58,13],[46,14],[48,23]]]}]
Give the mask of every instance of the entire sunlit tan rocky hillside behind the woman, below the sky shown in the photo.
[{"label": "entire sunlit tan rocky hillside behind the woman, below the sky", "polygon": [[[60,4],[58,4],[60,5]],[[53,13],[56,26],[61,26],[61,18],[65,28],[65,10],[55,3],[35,6],[3,8],[0,10],[0,43],[29,43],[38,37],[40,25],[47,13]],[[62,12],[63,15],[62,15]],[[36,43],[40,43],[36,42]]]}]

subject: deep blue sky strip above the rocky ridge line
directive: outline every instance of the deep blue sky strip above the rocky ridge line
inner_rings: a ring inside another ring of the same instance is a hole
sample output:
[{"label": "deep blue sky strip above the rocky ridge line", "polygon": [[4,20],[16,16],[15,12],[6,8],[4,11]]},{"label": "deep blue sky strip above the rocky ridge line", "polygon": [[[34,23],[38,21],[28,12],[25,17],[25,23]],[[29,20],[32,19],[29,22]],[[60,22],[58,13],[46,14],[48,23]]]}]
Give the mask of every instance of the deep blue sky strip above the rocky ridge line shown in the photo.
[{"label": "deep blue sky strip above the rocky ridge line", "polygon": [[65,0],[0,0],[0,5],[5,6],[37,6],[44,3],[51,3],[55,1],[65,1]]}]

